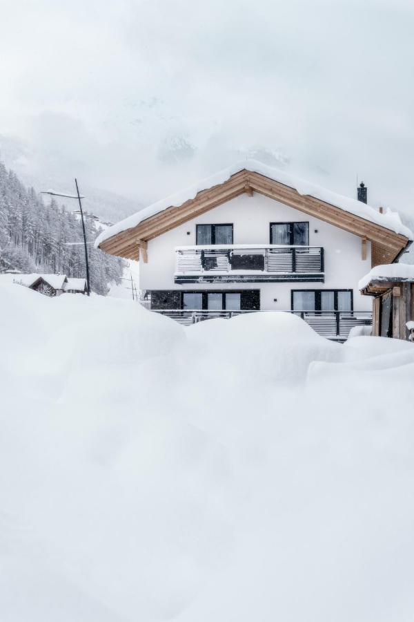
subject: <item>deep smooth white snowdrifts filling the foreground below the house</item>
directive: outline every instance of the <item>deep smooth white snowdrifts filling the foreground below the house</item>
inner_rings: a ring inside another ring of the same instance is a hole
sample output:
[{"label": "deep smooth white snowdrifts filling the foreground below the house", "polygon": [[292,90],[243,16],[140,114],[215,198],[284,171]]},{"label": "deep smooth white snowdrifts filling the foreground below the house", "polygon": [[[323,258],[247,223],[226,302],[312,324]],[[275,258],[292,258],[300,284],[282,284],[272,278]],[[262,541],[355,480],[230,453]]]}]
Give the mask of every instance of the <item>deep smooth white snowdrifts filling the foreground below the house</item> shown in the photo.
[{"label": "deep smooth white snowdrifts filling the foreground below the house", "polygon": [[414,346],[0,287],[1,622],[414,615]]}]

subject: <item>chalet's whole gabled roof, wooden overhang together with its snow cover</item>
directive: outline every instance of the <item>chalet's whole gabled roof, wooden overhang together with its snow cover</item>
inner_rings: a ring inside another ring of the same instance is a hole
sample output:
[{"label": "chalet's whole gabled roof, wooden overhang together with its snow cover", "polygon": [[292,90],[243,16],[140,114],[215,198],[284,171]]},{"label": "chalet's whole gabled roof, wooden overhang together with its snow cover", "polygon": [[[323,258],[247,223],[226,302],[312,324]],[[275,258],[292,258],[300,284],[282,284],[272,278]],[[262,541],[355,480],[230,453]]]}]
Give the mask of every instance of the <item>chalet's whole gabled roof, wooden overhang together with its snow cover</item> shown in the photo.
[{"label": "chalet's whole gabled roof, wooden overhang together with its snow cover", "polygon": [[369,205],[335,194],[256,160],[238,162],[183,191],[158,201],[102,232],[95,247],[139,258],[146,242],[240,194],[253,191],[367,238],[393,261],[413,234],[396,212],[380,214]]}]

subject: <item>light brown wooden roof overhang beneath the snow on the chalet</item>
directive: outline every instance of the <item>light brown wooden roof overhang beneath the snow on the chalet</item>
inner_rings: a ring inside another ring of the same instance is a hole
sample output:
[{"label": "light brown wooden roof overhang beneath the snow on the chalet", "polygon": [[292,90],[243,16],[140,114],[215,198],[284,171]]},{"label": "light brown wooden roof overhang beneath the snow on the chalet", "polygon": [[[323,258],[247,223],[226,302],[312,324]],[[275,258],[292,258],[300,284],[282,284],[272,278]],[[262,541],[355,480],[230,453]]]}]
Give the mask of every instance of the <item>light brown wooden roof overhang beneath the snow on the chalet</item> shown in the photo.
[{"label": "light brown wooden roof overhang beneath the snow on the chalet", "polygon": [[199,191],[194,198],[187,200],[179,207],[168,207],[146,218],[135,227],[102,241],[99,248],[111,255],[126,259],[139,259],[140,249],[146,256],[147,243],[152,238],[186,223],[187,220],[197,218],[206,211],[241,194],[246,193],[251,196],[253,191],[360,236],[363,240],[371,241],[373,243],[373,265],[391,263],[409,242],[406,236],[397,234],[386,227],[371,223],[369,220],[313,196],[301,195],[294,188],[260,173],[243,170],[219,185]]}]

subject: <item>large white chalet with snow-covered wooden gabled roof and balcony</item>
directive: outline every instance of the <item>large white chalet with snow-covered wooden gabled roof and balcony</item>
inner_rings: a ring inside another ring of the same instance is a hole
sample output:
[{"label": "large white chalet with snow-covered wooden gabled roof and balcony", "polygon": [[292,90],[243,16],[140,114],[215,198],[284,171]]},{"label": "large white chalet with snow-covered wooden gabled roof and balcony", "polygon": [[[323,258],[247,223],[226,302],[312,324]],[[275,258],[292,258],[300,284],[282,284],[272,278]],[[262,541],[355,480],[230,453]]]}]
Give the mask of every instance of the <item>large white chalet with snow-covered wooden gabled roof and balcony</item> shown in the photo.
[{"label": "large white chalet with snow-covered wooden gabled roof and balcony", "polygon": [[371,323],[359,279],[413,239],[398,214],[366,204],[363,184],[358,198],[248,160],[121,220],[95,245],[138,260],[150,308],[183,323],[280,310],[344,340]]}]

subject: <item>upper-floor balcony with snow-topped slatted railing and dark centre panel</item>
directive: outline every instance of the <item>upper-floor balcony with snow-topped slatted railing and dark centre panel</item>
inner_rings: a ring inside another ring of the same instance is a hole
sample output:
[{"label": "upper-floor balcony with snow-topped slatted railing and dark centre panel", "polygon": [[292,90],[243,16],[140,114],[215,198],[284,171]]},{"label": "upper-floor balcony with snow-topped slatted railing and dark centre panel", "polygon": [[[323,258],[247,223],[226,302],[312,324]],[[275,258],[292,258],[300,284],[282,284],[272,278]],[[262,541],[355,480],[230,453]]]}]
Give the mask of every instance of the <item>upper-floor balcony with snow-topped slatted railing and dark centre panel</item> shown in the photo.
[{"label": "upper-floor balcony with snow-topped slatted railing and dark centre panel", "polygon": [[319,246],[181,246],[175,254],[175,283],[324,283]]}]

